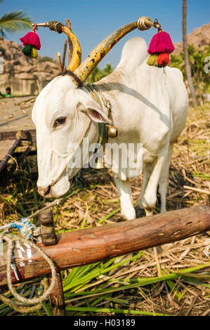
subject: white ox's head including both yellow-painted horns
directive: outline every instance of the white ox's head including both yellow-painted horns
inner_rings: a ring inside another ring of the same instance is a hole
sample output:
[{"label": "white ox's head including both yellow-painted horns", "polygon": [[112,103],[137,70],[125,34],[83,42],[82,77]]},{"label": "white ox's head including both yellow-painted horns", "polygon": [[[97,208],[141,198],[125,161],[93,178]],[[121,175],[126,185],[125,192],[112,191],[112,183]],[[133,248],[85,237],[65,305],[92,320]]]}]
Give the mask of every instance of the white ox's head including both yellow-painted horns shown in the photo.
[{"label": "white ox's head including both yellow-painted horns", "polygon": [[[104,39],[81,63],[81,48],[72,30],[60,22],[37,24],[65,32],[72,42],[72,60],[67,74],[55,77],[39,94],[32,110],[32,120],[37,129],[37,160],[39,194],[60,197],[70,188],[69,178],[79,171],[79,166],[69,166],[70,161],[88,133],[89,143],[97,141],[98,122],[110,122],[105,111],[82,86],[88,75],[110,49],[133,29],[140,29],[138,19]],[[150,22],[151,24],[151,22]],[[152,23],[153,24],[153,23]],[[88,150],[81,155],[88,160]]]}]

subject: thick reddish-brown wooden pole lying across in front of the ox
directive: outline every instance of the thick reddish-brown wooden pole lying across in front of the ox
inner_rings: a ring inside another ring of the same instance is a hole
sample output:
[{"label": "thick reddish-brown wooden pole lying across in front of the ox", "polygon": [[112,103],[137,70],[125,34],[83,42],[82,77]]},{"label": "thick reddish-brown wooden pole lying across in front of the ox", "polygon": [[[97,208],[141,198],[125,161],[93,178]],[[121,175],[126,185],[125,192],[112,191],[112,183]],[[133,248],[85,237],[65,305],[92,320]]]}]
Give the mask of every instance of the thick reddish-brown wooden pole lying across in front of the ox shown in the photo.
[{"label": "thick reddish-brown wooden pole lying across in front of the ox", "polygon": [[[113,225],[103,225],[58,235],[58,244],[43,246],[43,251],[53,260],[58,272],[99,260],[122,256],[126,253],[149,249],[154,246],[176,242],[210,230],[210,207],[195,206],[155,216],[138,218]],[[0,258],[0,287],[6,284],[6,251]],[[14,260],[19,280],[12,271],[12,281],[20,282],[51,270],[39,253],[32,249],[25,252],[14,249]],[[18,254],[19,252],[19,254]]]}]

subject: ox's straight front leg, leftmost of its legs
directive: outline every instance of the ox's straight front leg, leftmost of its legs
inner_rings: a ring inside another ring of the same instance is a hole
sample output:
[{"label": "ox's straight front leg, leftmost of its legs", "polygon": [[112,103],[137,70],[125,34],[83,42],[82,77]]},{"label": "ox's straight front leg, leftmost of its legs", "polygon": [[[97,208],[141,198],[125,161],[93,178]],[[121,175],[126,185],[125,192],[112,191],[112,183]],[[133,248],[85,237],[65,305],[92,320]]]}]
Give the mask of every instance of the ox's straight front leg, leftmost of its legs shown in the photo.
[{"label": "ox's straight front leg, leftmost of its legs", "polygon": [[125,218],[126,220],[135,219],[136,211],[133,207],[131,186],[129,180],[120,180],[119,178],[114,178],[114,182],[119,193],[121,213],[123,218]]}]

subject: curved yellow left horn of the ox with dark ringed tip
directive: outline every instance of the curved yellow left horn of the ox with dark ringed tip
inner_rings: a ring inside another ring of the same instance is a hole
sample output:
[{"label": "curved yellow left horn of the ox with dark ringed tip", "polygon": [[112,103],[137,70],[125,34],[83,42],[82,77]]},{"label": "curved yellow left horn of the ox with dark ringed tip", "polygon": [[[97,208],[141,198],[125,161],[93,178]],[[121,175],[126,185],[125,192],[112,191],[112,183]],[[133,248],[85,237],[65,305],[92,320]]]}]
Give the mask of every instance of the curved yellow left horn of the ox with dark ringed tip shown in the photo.
[{"label": "curved yellow left horn of the ox with dark ringed tip", "polygon": [[[32,24],[34,26],[35,24]],[[79,41],[75,34],[72,32],[71,29],[68,29],[63,23],[60,23],[55,20],[51,20],[51,22],[46,23],[37,23],[37,27],[49,27],[52,31],[62,33],[64,32],[67,34],[67,37],[70,38],[72,41],[73,51],[72,51],[72,58],[70,60],[70,63],[67,67],[67,70],[74,71],[79,67],[81,63],[81,47],[79,45]]]}]

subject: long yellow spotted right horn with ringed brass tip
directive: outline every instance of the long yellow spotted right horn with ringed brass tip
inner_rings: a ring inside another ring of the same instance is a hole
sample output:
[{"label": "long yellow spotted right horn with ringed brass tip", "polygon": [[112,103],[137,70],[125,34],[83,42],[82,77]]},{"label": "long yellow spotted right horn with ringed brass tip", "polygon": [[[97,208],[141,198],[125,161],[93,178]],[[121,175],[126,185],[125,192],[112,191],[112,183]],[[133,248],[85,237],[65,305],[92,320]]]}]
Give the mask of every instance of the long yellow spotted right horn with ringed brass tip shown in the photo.
[{"label": "long yellow spotted right horn with ringed brass tip", "polygon": [[126,34],[133,31],[133,29],[140,29],[141,31],[145,29],[150,29],[154,26],[151,18],[140,17],[136,22],[131,22],[123,27],[120,27],[115,32],[110,34],[105,38],[98,46],[96,46],[93,51],[88,55],[84,62],[77,67],[74,74],[83,82],[87,79],[88,75],[91,74],[93,69],[98,65],[100,60],[102,60],[105,55],[112,49],[112,47],[117,44],[117,42],[122,39]]}]

